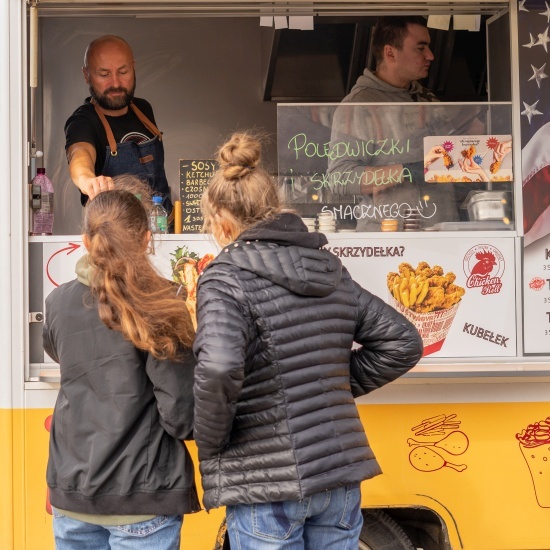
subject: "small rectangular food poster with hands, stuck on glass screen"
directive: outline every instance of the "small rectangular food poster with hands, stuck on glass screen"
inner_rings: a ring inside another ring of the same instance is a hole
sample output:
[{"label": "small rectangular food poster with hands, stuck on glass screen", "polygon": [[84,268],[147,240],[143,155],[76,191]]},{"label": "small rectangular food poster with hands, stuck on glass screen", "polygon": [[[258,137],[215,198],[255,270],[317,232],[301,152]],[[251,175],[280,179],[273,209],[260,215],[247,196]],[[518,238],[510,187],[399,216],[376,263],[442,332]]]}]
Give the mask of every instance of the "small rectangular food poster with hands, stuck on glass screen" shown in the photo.
[{"label": "small rectangular food poster with hands, stuck on glass screen", "polygon": [[513,181],[512,136],[430,136],[424,138],[428,183]]}]

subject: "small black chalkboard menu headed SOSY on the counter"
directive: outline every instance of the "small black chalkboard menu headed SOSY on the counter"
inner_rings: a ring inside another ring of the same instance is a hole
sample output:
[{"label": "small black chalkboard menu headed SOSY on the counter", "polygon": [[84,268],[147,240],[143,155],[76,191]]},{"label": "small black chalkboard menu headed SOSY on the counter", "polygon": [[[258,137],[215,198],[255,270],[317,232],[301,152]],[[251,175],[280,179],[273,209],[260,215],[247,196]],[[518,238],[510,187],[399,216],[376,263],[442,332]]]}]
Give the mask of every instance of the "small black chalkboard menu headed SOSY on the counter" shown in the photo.
[{"label": "small black chalkboard menu headed SOSY on the counter", "polygon": [[180,159],[180,200],[183,208],[183,233],[202,231],[201,197],[218,169],[215,160]]}]

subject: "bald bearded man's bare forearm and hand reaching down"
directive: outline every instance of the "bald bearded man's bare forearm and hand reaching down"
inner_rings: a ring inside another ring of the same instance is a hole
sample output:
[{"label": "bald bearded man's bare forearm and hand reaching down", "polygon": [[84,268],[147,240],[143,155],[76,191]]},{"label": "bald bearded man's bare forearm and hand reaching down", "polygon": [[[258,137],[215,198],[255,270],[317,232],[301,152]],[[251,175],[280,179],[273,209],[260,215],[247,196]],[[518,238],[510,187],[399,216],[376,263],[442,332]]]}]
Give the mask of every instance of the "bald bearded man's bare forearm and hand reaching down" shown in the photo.
[{"label": "bald bearded man's bare forearm and hand reaching down", "polygon": [[114,189],[108,176],[96,176],[94,171],[96,150],[91,143],[80,141],[67,149],[69,174],[81,193],[93,199],[98,193]]}]

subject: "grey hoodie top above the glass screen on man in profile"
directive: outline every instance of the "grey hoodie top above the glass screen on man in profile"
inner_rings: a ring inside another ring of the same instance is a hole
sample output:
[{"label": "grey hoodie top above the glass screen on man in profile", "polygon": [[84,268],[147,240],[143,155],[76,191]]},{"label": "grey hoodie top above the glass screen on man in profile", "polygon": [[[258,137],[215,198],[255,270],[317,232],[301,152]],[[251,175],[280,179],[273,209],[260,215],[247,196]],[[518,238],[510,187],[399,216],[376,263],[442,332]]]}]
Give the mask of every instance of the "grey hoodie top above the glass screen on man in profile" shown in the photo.
[{"label": "grey hoodie top above the glass screen on man in profile", "polygon": [[430,102],[438,101],[436,96],[418,82],[411,82],[409,90],[392,86],[380,80],[368,69],[357,79],[350,93],[342,100],[345,103],[398,103],[398,102]]}]

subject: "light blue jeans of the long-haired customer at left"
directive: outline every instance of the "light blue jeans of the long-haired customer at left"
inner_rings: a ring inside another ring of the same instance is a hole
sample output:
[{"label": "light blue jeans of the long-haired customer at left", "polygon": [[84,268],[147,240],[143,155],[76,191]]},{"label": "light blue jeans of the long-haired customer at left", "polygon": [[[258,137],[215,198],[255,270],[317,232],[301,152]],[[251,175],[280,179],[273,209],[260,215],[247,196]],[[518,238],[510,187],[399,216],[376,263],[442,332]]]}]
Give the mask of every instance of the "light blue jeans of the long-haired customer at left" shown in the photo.
[{"label": "light blue jeans of the long-haired customer at left", "polygon": [[128,525],[93,525],[53,509],[56,550],[179,550],[182,516]]}]

